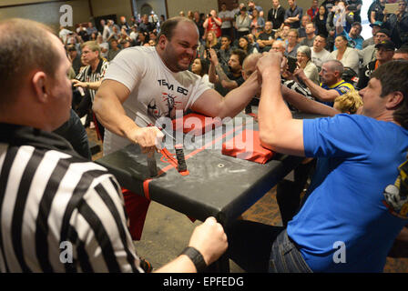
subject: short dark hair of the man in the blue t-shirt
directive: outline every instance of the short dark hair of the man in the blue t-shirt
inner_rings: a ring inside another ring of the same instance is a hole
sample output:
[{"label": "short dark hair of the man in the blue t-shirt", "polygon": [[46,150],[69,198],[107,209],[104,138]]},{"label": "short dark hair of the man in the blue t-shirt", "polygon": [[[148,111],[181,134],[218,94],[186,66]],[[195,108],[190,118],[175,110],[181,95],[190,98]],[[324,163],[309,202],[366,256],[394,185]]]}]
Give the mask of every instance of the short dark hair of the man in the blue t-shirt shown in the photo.
[{"label": "short dark hair of the man in the blue t-shirt", "polygon": [[380,65],[372,73],[372,78],[380,81],[382,86],[381,96],[384,97],[393,92],[401,92],[403,94],[403,102],[401,102],[393,113],[393,119],[398,122],[403,128],[408,129],[408,61],[397,60],[390,61]]}]

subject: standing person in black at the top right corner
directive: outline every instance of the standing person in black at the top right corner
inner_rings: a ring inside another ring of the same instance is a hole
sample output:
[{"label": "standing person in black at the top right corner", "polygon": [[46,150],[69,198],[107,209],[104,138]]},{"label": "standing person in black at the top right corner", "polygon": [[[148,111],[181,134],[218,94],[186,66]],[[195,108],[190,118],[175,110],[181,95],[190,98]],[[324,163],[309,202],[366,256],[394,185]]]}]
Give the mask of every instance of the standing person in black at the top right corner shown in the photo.
[{"label": "standing person in black at the top right corner", "polygon": [[398,11],[389,15],[384,10],[384,27],[391,31],[393,43],[399,48],[408,44],[408,12],[406,11],[406,0],[398,1]]}]

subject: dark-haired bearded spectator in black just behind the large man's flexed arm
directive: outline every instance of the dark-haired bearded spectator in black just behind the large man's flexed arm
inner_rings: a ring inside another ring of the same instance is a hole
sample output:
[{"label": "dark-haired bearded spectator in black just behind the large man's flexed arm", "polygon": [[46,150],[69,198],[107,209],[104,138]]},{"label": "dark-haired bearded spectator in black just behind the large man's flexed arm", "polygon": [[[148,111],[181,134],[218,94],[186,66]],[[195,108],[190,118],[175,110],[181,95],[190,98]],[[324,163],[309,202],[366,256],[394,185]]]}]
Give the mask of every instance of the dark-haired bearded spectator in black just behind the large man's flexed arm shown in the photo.
[{"label": "dark-haired bearded spectator in black just behind the large man's flexed arm", "polygon": [[[247,56],[246,52],[241,49],[235,49],[230,55],[230,61],[228,62],[230,71],[225,72],[221,65],[219,64],[219,59],[215,50],[210,49],[210,65],[209,65],[209,82],[212,84],[220,85],[219,90],[223,93],[228,93],[230,90],[235,89],[244,83],[242,77],[242,64],[245,57]],[[222,90],[222,88],[224,90]],[[222,95],[222,94],[221,94]]]}]

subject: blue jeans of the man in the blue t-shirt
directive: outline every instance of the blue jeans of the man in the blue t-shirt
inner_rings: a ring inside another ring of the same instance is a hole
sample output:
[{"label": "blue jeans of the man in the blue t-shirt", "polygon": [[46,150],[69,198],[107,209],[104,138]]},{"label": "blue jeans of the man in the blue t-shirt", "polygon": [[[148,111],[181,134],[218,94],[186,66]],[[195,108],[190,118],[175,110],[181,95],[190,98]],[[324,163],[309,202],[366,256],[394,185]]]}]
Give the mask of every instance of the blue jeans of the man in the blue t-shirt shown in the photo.
[{"label": "blue jeans of the man in the blue t-shirt", "polygon": [[226,229],[227,256],[249,273],[311,273],[282,226],[238,220]]}]

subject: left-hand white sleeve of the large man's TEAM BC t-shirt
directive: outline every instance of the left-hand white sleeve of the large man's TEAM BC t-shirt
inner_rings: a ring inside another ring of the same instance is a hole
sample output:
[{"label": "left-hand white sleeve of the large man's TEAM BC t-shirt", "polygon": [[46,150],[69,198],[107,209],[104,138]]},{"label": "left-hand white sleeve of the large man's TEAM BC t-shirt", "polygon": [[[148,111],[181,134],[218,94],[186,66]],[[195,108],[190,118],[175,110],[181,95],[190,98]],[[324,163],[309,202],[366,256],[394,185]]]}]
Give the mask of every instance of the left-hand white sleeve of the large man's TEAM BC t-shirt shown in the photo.
[{"label": "left-hand white sleeve of the large man's TEAM BC t-shirt", "polygon": [[104,80],[114,80],[126,85],[130,92],[138,84],[145,67],[145,57],[133,49],[122,50],[109,63]]}]

